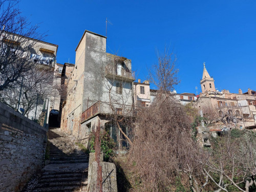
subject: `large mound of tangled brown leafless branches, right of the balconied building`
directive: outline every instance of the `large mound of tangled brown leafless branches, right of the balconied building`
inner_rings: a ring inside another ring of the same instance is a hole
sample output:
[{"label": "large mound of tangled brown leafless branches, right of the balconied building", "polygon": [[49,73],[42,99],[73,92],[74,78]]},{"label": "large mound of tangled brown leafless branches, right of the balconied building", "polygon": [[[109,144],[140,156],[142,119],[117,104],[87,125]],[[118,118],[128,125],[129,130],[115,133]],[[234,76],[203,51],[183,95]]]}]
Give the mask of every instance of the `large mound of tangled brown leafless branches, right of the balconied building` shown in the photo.
[{"label": "large mound of tangled brown leafless branches, right of the balconied building", "polygon": [[158,94],[148,108],[139,110],[136,125],[133,145],[123,161],[129,164],[134,191],[175,191],[177,178],[194,191],[206,185],[200,162],[207,153],[192,139],[184,106],[175,98]]}]

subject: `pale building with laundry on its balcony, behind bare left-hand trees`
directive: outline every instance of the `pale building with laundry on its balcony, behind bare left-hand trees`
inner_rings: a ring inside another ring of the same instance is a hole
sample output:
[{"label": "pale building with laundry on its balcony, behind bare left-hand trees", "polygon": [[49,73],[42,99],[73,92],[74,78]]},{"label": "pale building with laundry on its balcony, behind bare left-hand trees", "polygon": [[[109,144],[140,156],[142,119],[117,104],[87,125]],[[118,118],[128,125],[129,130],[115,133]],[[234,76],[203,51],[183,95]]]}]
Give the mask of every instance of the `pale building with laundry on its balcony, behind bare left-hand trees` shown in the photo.
[{"label": "pale building with laundry on its balcony, behind bare left-hand trees", "polygon": [[[23,60],[20,62],[26,62],[26,63],[31,63],[31,65],[35,64],[36,68],[38,70],[44,70],[44,69],[49,69],[50,71],[52,70],[52,75],[48,75],[49,78],[49,83],[52,83],[51,87],[55,87],[56,85],[58,86],[57,77],[54,72],[55,65],[58,65],[56,63],[56,55],[57,55],[57,50],[58,50],[58,45],[51,44],[50,42],[30,38],[30,37],[25,37],[23,35],[18,35],[14,33],[10,33],[7,31],[1,31],[1,36],[0,36],[0,41],[1,41],[1,54],[8,55],[8,57],[15,57],[19,60]],[[31,79],[31,83],[32,83]],[[35,80],[34,80],[35,81]],[[33,82],[34,83],[34,82]],[[24,86],[24,85],[23,85]],[[35,93],[36,94],[36,93]],[[48,103],[48,115],[53,108],[58,108],[57,102],[54,102],[54,100],[57,100],[57,95],[54,98],[54,96],[49,96],[49,103]],[[11,95],[13,97],[14,95]],[[11,97],[8,97],[6,94],[2,95],[2,100],[4,100],[5,103],[11,105],[13,104]],[[29,119],[39,119],[41,118],[41,112],[42,110],[47,108],[46,104],[46,98],[41,98],[38,97],[37,99],[37,104],[36,106],[32,107],[26,116]],[[35,103],[33,103],[35,105]],[[56,105],[55,105],[56,104]],[[54,106],[55,105],[55,106]],[[19,112],[23,113],[23,105],[19,105]]]}]

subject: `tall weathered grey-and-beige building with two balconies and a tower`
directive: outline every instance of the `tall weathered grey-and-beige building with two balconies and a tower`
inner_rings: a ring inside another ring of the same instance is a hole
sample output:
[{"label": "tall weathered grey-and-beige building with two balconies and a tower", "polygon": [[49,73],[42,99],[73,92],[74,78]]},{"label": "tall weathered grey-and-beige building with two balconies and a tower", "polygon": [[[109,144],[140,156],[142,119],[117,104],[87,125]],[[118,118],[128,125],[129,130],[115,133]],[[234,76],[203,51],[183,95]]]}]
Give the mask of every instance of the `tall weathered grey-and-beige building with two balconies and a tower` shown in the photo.
[{"label": "tall weathered grey-and-beige building with two balconies and a tower", "polygon": [[110,116],[133,115],[131,60],[106,53],[106,37],[87,30],[75,51],[75,66],[67,81],[67,99],[63,101],[61,129],[87,143],[98,121],[102,129],[108,129],[105,123],[109,122],[110,135],[116,139],[118,133]]}]

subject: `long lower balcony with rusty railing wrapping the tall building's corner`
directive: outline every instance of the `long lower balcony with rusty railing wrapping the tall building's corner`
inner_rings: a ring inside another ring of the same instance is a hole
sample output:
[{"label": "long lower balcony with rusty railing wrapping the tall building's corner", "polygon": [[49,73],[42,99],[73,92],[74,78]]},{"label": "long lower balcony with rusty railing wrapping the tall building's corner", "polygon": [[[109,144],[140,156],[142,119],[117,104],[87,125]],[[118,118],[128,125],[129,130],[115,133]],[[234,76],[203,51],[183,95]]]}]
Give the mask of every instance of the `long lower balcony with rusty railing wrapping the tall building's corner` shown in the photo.
[{"label": "long lower balcony with rusty railing wrapping the tall building's corner", "polygon": [[92,106],[90,106],[88,110],[82,113],[81,123],[98,114],[132,117],[133,107],[132,105],[124,105],[117,103],[110,104],[109,102],[98,101],[94,103]]}]

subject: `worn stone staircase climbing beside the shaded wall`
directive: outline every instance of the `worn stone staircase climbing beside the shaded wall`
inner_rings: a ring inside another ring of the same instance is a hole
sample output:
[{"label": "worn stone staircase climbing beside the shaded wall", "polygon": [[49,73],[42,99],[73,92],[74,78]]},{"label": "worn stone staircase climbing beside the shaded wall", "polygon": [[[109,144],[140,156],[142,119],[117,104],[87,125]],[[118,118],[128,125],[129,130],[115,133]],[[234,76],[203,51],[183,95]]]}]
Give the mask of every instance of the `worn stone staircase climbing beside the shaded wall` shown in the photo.
[{"label": "worn stone staircase climbing beside the shaded wall", "polygon": [[42,169],[35,187],[27,191],[86,191],[89,160],[75,141],[59,128],[49,130],[50,164]]}]

